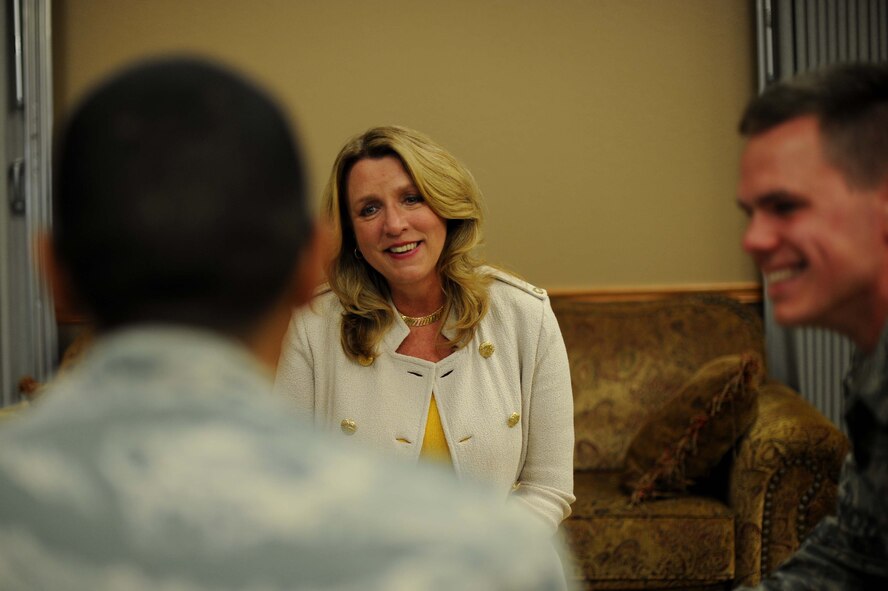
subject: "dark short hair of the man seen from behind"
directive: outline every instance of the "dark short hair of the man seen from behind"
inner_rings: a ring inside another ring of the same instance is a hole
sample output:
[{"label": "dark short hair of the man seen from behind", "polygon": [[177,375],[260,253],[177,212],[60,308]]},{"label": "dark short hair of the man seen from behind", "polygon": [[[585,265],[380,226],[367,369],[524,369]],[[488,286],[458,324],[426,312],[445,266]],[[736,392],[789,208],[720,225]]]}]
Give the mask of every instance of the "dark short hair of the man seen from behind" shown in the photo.
[{"label": "dark short hair of the man seen from behind", "polygon": [[249,331],[312,232],[286,117],[200,59],[145,62],[100,86],[64,128],[56,164],[55,254],[102,329]]}]

